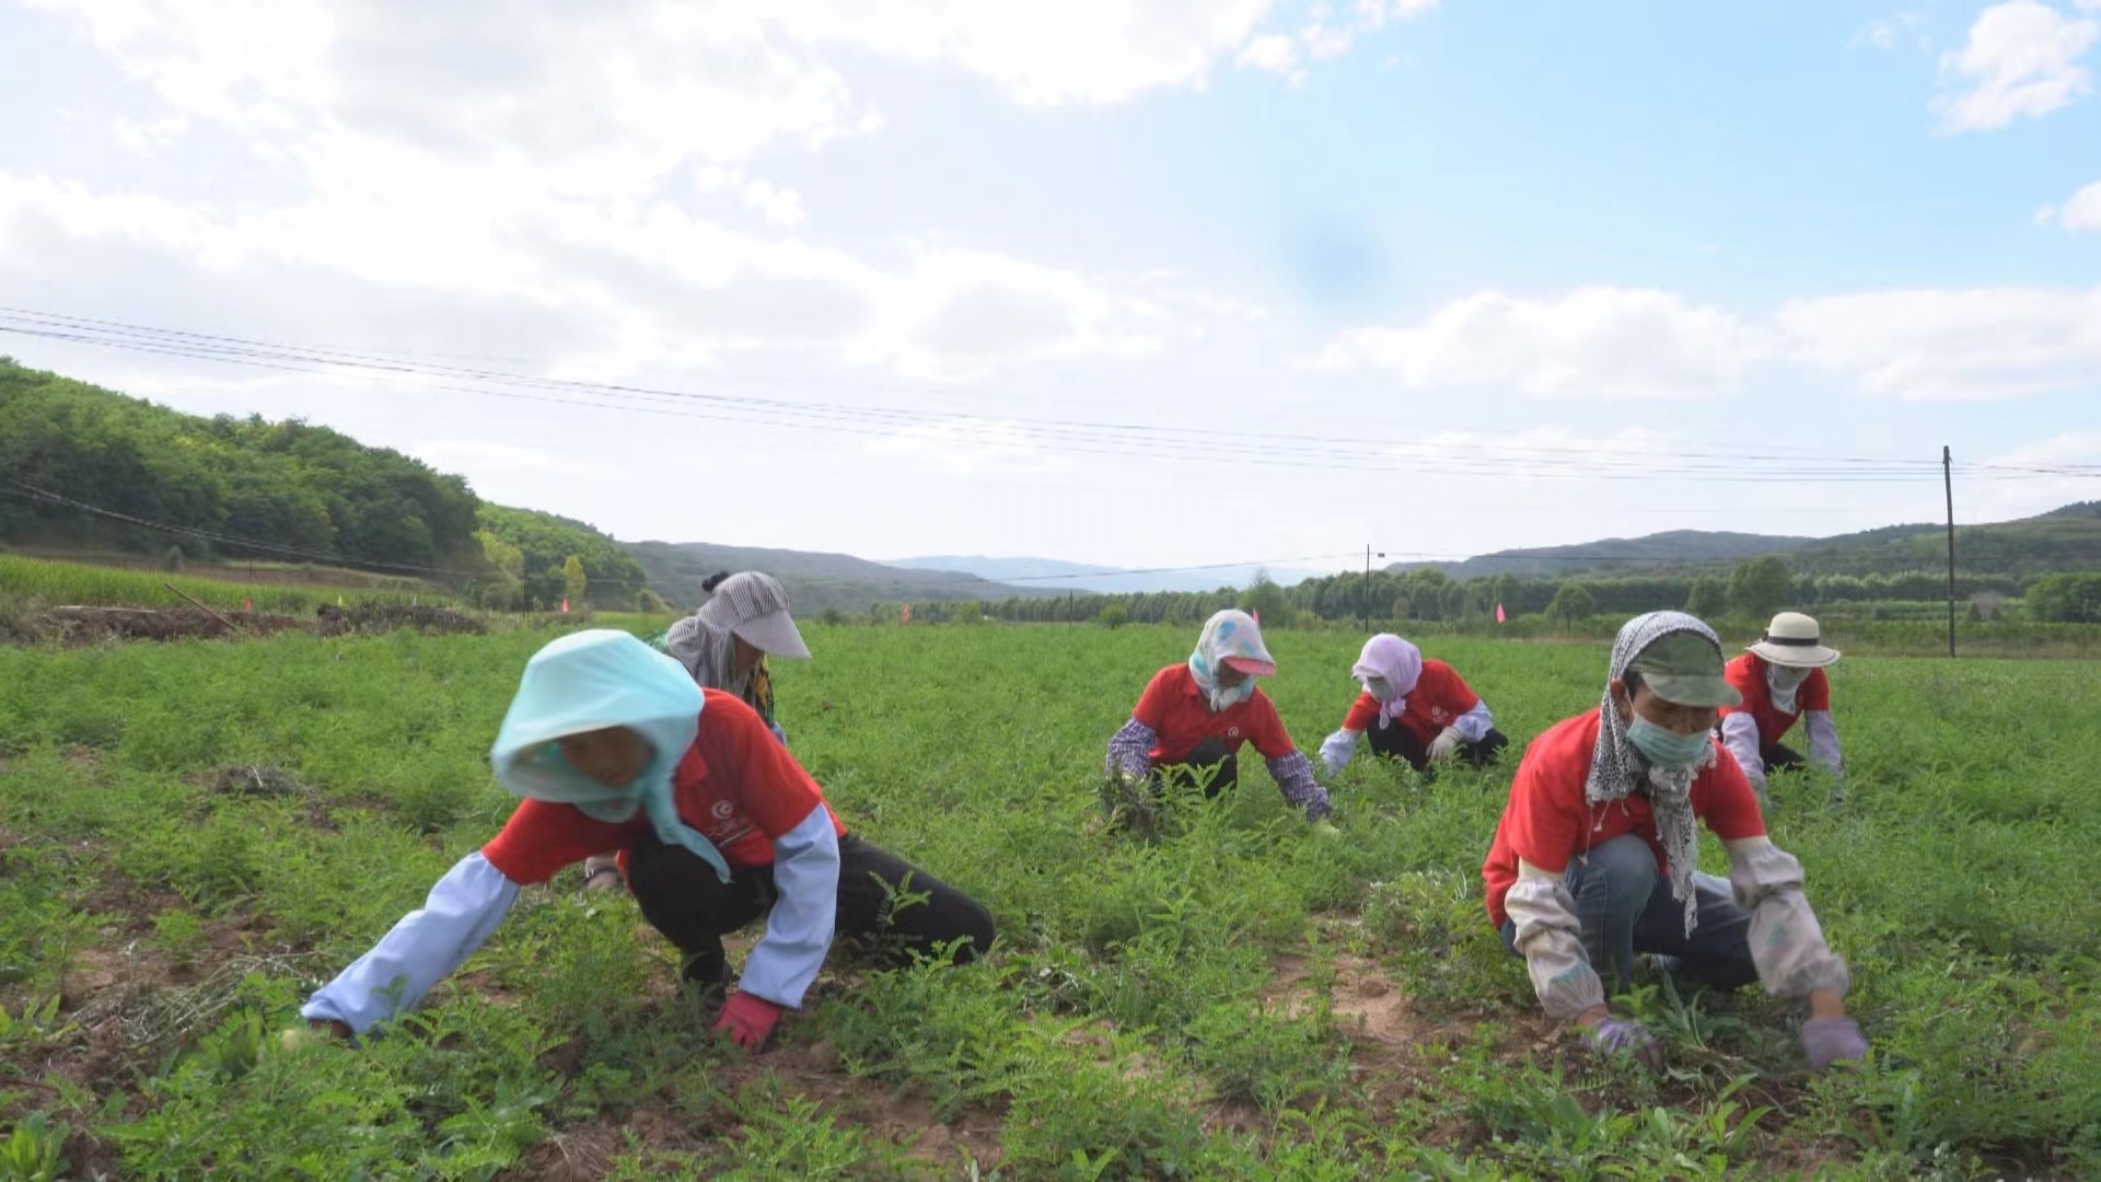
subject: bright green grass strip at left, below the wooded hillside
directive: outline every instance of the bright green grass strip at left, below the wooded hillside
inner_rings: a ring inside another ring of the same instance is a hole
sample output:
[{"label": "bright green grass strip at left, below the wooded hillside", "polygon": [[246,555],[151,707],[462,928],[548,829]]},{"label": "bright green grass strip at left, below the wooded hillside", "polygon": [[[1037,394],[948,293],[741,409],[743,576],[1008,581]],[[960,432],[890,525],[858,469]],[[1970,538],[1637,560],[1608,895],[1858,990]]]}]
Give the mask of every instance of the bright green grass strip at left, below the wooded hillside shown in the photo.
[{"label": "bright green grass strip at left, below the wooded hillside", "polygon": [[321,578],[311,585],[240,583],[231,570],[227,576],[162,574],[0,553],[0,604],[15,599],[44,606],[185,606],[183,595],[170,593],[168,587],[223,612],[244,610],[252,604],[256,612],[311,616],[317,606],[338,599],[452,604],[441,593],[387,576],[372,576],[363,587],[345,587],[340,580]]}]

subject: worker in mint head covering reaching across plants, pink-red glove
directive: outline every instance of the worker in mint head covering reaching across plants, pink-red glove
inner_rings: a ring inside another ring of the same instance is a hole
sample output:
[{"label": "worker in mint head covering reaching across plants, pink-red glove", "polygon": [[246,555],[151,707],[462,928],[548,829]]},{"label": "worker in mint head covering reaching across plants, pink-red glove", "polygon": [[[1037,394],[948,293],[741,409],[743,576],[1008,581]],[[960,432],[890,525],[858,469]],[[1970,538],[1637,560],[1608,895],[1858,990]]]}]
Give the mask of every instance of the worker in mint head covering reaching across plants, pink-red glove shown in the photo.
[{"label": "worker in mint head covering reaching across plants, pink-red glove", "polygon": [[[490,763],[525,797],[517,812],[307,1001],[309,1022],[363,1035],[481,946],[521,885],[607,850],[704,997],[729,989],[723,934],[767,915],[714,1024],[748,1052],[803,1003],[834,932],[882,930],[918,953],[960,940],[958,961],[992,944],[983,906],[847,833],[756,711],[628,633],[578,631],[534,654]],[[897,888],[924,902],[889,913]]]}]

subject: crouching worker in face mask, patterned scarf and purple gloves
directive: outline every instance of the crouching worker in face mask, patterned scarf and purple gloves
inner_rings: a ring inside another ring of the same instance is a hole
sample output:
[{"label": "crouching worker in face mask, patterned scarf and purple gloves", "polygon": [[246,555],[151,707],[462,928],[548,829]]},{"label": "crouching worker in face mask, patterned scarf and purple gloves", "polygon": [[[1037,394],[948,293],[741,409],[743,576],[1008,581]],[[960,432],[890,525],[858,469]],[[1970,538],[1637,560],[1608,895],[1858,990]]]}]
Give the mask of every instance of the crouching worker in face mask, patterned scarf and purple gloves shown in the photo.
[{"label": "crouching worker in face mask, patterned scarf and purple gloves", "polygon": [[[1775,848],[1750,782],[1721,757],[1714,711],[1738,702],[1721,641],[1693,616],[1649,612],[1620,629],[1597,711],[1532,740],[1511,782],[1481,879],[1502,942],[1525,959],[1546,1014],[1599,1052],[1656,1068],[1662,1045],[1605,1005],[1635,953],[1691,984],[1807,997],[1813,1071],[1859,1058],[1845,1016],[1847,967],[1824,942],[1803,864]],[[1729,852],[1729,879],[1698,873],[1696,820]]]}]

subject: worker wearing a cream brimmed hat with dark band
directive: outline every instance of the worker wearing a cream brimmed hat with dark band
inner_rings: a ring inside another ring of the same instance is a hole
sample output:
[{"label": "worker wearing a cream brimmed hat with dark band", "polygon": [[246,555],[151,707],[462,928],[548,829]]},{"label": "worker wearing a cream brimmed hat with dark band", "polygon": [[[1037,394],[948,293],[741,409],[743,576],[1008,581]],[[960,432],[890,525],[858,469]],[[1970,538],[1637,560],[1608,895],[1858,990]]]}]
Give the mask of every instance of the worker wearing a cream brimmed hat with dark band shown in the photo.
[{"label": "worker wearing a cream brimmed hat with dark band", "polygon": [[1838,650],[1824,648],[1822,629],[1801,612],[1773,616],[1759,644],[1729,663],[1729,684],[1744,702],[1721,713],[1721,740],[1761,801],[1767,774],[1803,766],[1801,753],[1780,742],[1794,719],[1803,719],[1809,734],[1809,757],[1832,776],[1845,774],[1832,726],[1832,684],[1824,677],[1836,663]]}]

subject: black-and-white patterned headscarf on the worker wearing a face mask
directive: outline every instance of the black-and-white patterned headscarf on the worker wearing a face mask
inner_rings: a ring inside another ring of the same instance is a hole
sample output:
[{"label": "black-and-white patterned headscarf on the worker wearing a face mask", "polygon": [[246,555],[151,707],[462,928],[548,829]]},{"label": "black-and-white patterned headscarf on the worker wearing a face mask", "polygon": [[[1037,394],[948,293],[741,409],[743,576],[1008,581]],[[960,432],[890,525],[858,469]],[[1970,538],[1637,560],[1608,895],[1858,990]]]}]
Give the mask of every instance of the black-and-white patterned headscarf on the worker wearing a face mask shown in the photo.
[{"label": "black-and-white patterned headscarf on the worker wearing a face mask", "polygon": [[1611,681],[1626,677],[1645,648],[1670,633],[1700,633],[1721,656],[1721,637],[1685,612],[1649,612],[1626,620],[1620,637],[1611,641],[1611,673],[1607,675],[1605,700],[1599,707],[1597,747],[1590,749],[1590,778],[1584,780],[1584,799],[1605,803],[1649,789],[1649,808],[1656,814],[1656,835],[1664,841],[1664,858],[1670,862],[1670,898],[1685,904],[1685,934],[1700,921],[1698,898],[1693,896],[1693,869],[1700,864],[1700,831],[1693,824],[1693,778],[1714,763],[1714,745],[1691,768],[1651,768],[1626,736],[1626,719],[1611,700]]}]

